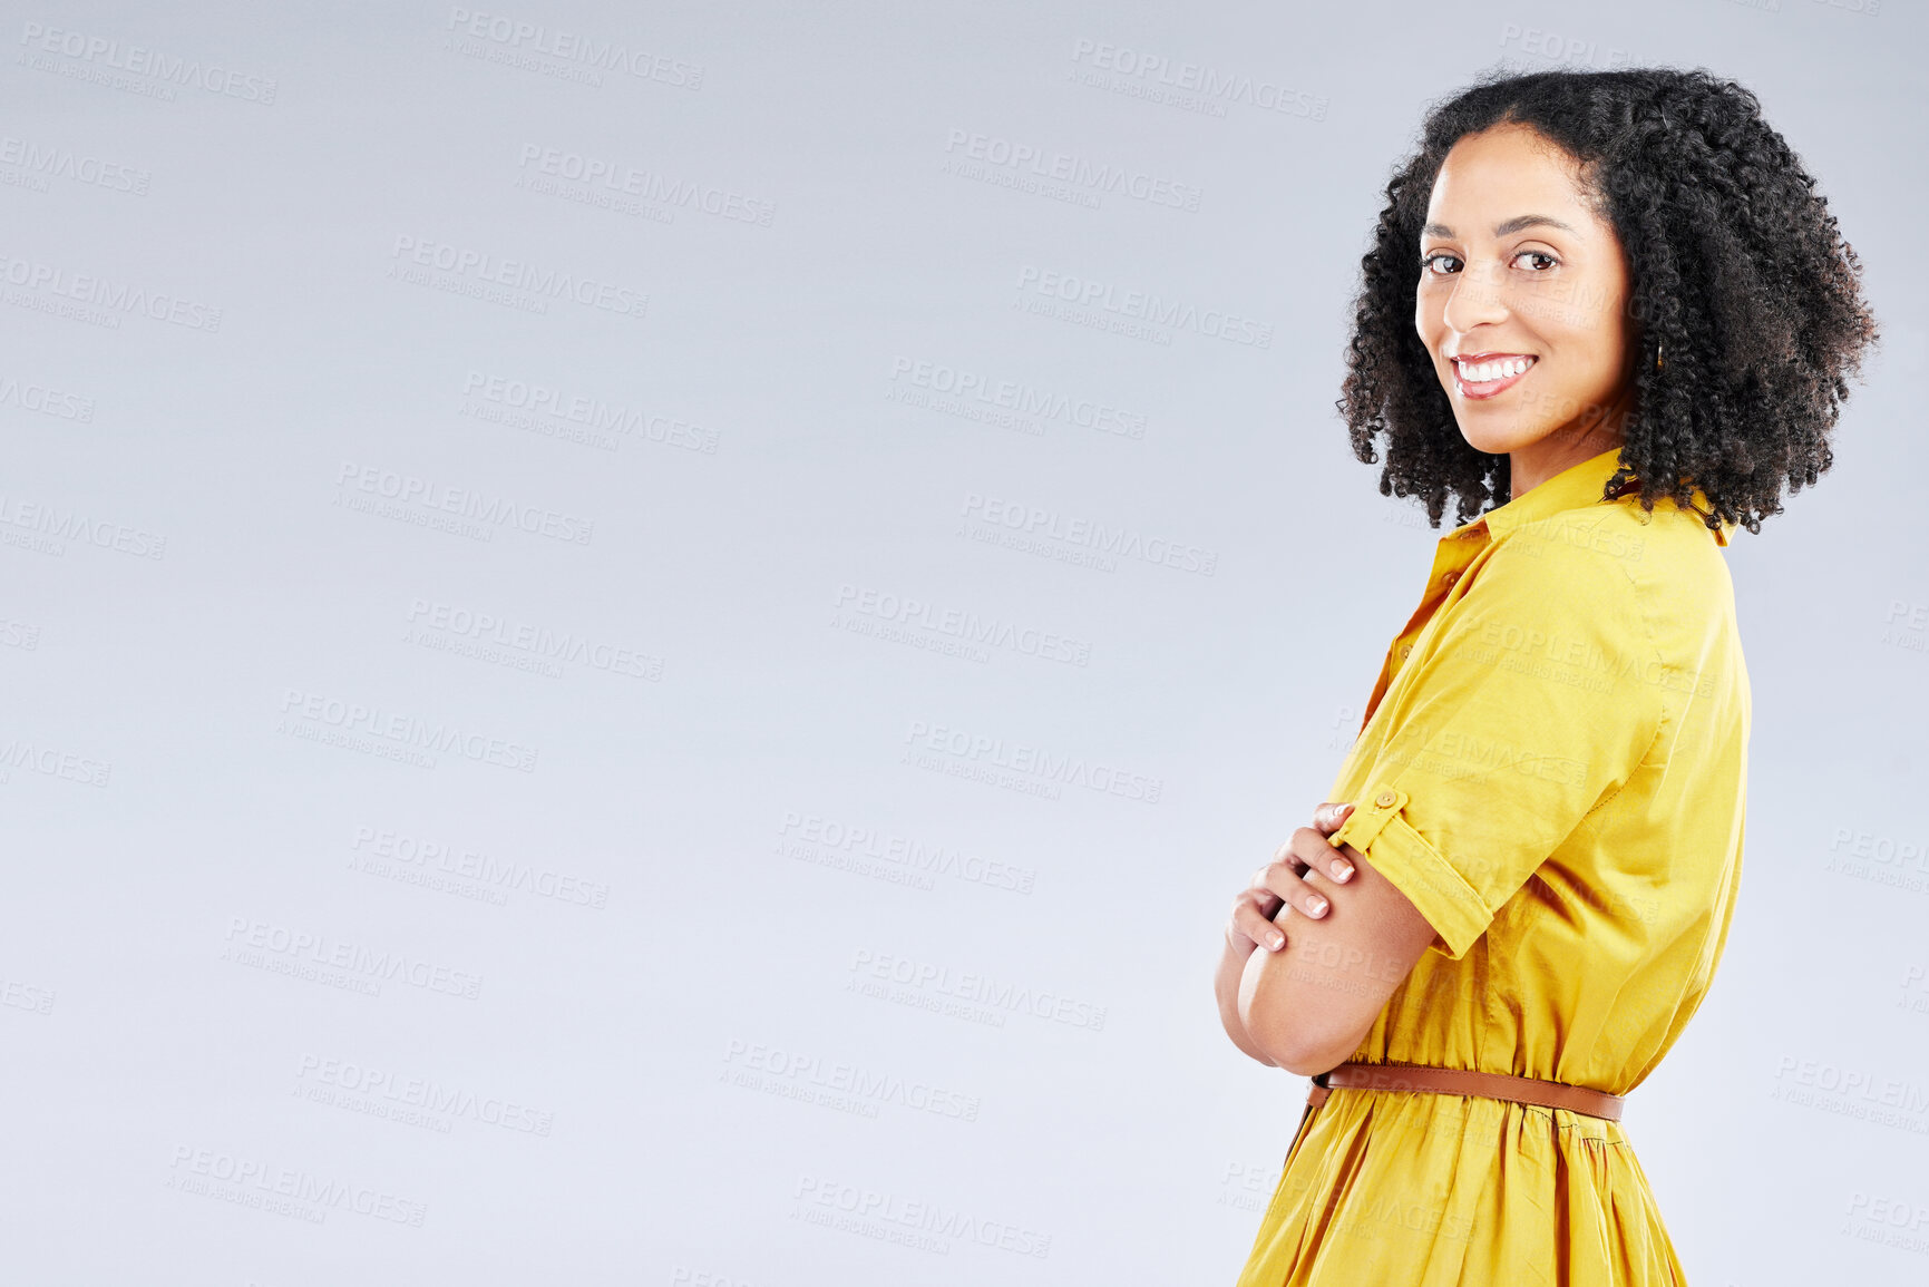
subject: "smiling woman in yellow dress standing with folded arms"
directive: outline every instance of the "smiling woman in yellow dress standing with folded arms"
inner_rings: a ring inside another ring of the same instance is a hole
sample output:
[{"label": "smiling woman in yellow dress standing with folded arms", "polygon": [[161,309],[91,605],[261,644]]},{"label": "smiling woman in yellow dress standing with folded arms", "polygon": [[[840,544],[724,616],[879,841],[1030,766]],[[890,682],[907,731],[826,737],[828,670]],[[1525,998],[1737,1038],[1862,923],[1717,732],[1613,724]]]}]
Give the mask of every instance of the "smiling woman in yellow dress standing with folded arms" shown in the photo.
[{"label": "smiling woman in yellow dress standing with folded arms", "polygon": [[1630,69],[1437,106],[1364,270],[1354,453],[1460,527],[1227,926],[1227,1034],[1316,1082],[1238,1285],[1680,1283],[1620,1096],[1726,942],[1721,546],[1831,465],[1860,262],[1750,91]]}]

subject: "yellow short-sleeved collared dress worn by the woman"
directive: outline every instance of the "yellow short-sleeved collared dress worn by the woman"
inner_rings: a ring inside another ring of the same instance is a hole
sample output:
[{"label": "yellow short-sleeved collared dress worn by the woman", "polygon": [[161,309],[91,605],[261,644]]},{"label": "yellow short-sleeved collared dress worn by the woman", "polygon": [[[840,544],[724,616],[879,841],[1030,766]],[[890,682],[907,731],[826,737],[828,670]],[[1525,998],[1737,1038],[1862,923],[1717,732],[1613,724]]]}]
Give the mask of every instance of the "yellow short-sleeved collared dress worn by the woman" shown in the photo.
[{"label": "yellow short-sleeved collared dress worn by the woman", "polygon": [[[1748,772],[1732,525],[1603,502],[1615,467],[1603,452],[1447,533],[1387,652],[1331,839],[1437,938],[1356,1061],[1628,1094],[1713,982]],[[1622,1125],[1346,1088],[1294,1138],[1238,1287],[1684,1281]]]}]

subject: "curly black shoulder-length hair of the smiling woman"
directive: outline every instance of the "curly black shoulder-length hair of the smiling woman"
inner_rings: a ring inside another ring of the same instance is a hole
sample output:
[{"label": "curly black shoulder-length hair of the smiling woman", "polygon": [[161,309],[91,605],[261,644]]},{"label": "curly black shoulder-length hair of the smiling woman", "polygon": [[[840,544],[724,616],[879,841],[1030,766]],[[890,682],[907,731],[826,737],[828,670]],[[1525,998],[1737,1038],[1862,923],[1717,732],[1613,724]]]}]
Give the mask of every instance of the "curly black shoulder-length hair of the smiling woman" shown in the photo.
[{"label": "curly black shoulder-length hair of the smiling woman", "polygon": [[1499,123],[1530,125],[1580,162],[1628,259],[1645,361],[1603,496],[1638,480],[1653,511],[1661,496],[1688,507],[1699,486],[1711,529],[1759,533],[1784,482],[1800,492],[1833,463],[1844,376],[1879,336],[1861,262],[1815,179],[1752,91],[1701,69],[1489,71],[1433,106],[1362,259],[1337,403],[1354,455],[1377,463],[1385,434],[1379,492],[1420,496],[1431,527],[1449,494],[1460,523],[1510,494],[1508,457],[1466,442],[1414,332],[1433,179],[1460,137]]}]

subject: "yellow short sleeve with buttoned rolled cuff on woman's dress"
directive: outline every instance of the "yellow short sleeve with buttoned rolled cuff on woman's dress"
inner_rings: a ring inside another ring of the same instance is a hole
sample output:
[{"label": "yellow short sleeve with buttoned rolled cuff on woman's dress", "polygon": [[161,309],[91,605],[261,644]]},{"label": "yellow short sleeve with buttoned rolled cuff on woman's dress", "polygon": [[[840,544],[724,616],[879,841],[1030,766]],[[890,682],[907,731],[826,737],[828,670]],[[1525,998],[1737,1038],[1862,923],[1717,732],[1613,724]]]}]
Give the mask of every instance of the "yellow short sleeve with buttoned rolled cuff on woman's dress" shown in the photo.
[{"label": "yellow short sleeve with buttoned rolled cuff on woman's dress", "polygon": [[1626,554],[1562,531],[1478,563],[1362,731],[1341,772],[1360,787],[1331,797],[1354,810],[1329,841],[1364,853],[1454,961],[1632,778],[1665,716]]}]

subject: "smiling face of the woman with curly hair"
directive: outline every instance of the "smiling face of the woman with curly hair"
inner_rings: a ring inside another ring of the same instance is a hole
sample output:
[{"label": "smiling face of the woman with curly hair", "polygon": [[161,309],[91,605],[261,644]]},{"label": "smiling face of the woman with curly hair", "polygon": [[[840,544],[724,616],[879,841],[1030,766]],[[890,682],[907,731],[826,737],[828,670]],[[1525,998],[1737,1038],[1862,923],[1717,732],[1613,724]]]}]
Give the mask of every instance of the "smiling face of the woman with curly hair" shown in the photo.
[{"label": "smiling face of the woman with curly hair", "polygon": [[1414,328],[1468,444],[1518,453],[1535,482],[1620,446],[1640,351],[1628,266],[1566,152],[1528,125],[1454,143],[1420,259]]}]

